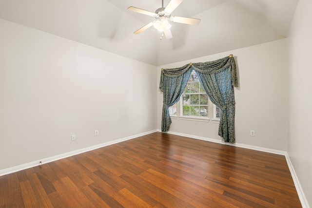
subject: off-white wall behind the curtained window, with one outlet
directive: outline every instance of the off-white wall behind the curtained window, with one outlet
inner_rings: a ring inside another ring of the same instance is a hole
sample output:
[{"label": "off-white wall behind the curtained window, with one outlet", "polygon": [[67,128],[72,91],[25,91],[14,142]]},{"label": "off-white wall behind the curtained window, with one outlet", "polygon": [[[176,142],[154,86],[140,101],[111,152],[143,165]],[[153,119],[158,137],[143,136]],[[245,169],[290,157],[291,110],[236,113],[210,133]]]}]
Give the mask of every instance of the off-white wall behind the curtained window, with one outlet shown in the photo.
[{"label": "off-white wall behind the curtained window, with one outlet", "polygon": [[[236,143],[286,151],[286,39],[160,66],[157,82],[161,68],[212,61],[230,54],[236,60],[239,77],[239,88],[235,89]],[[161,129],[162,96],[158,90],[158,129]],[[209,113],[212,117],[212,108]],[[250,130],[255,131],[255,136],[250,136]],[[218,123],[212,120],[206,123],[172,119],[170,131],[221,141]]]}]

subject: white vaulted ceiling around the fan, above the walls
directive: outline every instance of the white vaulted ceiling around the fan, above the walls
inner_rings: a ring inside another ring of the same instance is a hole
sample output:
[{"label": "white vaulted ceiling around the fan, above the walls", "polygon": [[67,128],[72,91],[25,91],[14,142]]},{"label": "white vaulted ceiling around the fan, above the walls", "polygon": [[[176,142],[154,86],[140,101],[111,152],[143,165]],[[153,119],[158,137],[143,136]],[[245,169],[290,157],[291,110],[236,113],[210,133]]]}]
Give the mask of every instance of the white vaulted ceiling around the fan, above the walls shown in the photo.
[{"label": "white vaulted ceiling around the fan, above the walls", "polygon": [[127,10],[155,12],[161,0],[0,0],[0,18],[160,66],[285,38],[297,2],[184,0],[172,14],[201,23],[173,23],[168,40],[153,27],[135,35],[153,17]]}]

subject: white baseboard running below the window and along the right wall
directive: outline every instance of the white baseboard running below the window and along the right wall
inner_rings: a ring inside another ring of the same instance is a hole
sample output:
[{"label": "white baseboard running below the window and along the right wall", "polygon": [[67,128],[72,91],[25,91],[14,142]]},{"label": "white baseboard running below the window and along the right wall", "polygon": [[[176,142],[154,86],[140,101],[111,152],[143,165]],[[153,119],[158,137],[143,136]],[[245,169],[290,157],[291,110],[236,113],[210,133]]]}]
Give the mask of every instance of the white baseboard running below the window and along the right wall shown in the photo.
[{"label": "white baseboard running below the window and along the right wall", "polygon": [[[158,132],[161,132],[161,130],[158,129]],[[240,144],[240,143],[228,144],[228,143],[225,143],[224,141],[222,141],[221,139],[212,139],[212,138],[201,137],[201,136],[185,134],[185,133],[170,132],[170,131],[167,133],[175,134],[178,136],[190,137],[190,138],[199,139],[199,140],[204,140],[204,141],[209,141],[209,142],[215,142],[215,143],[219,143],[219,144],[225,144],[225,145],[231,145],[231,146],[235,146],[235,147],[246,148],[246,149],[250,149],[250,150],[264,151],[264,152],[269,152],[269,153],[273,153],[273,154],[284,155],[286,158],[286,161],[287,161],[288,168],[291,172],[292,180],[293,180],[294,186],[297,190],[301,206],[302,206],[302,208],[310,208],[308,201],[307,201],[307,198],[305,197],[304,192],[303,192],[301,185],[299,183],[296,172],[293,169],[292,162],[288,156],[287,151],[279,151],[279,150],[274,150],[274,149],[256,147],[256,146],[252,146],[252,145]]]}]

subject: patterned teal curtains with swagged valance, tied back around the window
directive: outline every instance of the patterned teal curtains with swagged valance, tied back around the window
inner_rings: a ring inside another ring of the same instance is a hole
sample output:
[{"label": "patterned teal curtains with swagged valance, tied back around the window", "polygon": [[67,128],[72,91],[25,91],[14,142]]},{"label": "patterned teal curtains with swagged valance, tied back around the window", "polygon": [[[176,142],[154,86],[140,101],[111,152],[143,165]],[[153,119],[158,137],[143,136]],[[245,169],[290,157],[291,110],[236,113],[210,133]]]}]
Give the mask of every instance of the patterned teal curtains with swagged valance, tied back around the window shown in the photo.
[{"label": "patterned teal curtains with swagged valance, tied back around the window", "polygon": [[[161,131],[166,132],[169,130],[171,124],[169,107],[175,104],[181,96],[193,69],[210,100],[221,109],[219,135],[225,142],[234,143],[234,87],[238,86],[238,82],[233,55],[215,61],[190,63],[180,68],[162,70],[159,85],[164,96]],[[177,81],[174,81],[173,77],[175,77],[175,80],[183,80],[183,84],[181,86],[176,85]],[[168,105],[167,103],[171,103],[168,102],[170,100],[168,97],[172,94],[178,95],[178,97],[174,96],[172,105]]]}]

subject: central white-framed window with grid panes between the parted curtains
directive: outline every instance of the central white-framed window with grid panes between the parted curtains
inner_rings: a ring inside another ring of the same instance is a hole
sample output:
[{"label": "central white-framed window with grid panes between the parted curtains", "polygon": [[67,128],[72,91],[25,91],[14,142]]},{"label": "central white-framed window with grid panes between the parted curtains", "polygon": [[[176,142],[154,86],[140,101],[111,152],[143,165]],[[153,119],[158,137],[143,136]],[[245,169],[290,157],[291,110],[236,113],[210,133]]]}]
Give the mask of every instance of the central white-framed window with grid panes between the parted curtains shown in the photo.
[{"label": "central white-framed window with grid panes between the parted curtains", "polygon": [[201,87],[194,70],[181,95],[180,105],[181,116],[208,118],[208,96]]}]

